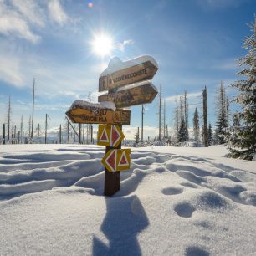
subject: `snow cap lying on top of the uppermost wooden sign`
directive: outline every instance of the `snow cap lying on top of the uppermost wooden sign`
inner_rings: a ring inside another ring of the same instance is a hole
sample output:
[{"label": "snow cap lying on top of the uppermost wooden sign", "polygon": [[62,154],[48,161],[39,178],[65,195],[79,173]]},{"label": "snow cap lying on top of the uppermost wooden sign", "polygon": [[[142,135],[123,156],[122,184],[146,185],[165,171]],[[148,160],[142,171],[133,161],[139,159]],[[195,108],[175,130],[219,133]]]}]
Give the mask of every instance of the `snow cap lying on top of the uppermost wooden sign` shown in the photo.
[{"label": "snow cap lying on top of the uppermost wooden sign", "polygon": [[156,68],[158,68],[156,59],[154,59],[150,55],[139,56],[139,57],[136,57],[135,59],[129,59],[127,61],[121,61],[118,57],[114,57],[113,59],[110,59],[110,63],[108,67],[100,74],[100,76],[112,74],[113,72],[120,69],[128,69],[147,61],[150,61],[152,64],[156,66]]}]

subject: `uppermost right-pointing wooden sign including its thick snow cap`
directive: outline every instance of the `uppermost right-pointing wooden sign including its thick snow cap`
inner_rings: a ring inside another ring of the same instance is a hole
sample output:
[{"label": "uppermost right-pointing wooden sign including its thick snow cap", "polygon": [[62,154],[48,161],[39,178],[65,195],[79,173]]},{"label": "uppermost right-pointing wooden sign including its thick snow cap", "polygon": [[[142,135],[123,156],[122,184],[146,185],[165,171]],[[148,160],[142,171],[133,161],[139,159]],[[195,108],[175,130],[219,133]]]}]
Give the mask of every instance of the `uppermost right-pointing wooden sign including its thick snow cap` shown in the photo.
[{"label": "uppermost right-pointing wooden sign including its thick snow cap", "polygon": [[115,57],[110,60],[108,68],[100,74],[99,91],[151,80],[157,69],[156,60],[151,56],[141,56],[125,62]]}]

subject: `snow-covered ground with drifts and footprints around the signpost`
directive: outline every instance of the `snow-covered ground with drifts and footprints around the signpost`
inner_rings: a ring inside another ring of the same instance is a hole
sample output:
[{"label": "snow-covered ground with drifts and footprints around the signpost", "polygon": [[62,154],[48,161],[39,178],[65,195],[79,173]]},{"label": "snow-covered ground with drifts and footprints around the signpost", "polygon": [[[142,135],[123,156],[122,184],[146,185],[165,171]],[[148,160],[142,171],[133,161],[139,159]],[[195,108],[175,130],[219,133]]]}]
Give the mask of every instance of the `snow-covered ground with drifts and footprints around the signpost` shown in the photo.
[{"label": "snow-covered ground with drifts and footprints around the signpost", "polygon": [[256,162],[223,146],[131,148],[103,196],[103,146],[0,146],[0,255],[255,255]]}]

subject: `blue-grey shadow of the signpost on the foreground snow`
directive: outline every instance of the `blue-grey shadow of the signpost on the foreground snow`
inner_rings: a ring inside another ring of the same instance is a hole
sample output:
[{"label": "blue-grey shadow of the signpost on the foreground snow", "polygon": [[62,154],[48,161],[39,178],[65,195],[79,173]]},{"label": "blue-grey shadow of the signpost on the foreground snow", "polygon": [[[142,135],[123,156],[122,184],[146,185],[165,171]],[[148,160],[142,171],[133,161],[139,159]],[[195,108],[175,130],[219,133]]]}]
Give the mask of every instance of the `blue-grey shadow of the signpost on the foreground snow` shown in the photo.
[{"label": "blue-grey shadow of the signpost on the foreground snow", "polygon": [[137,235],[148,226],[149,220],[140,199],[105,197],[105,202],[107,212],[100,229],[109,246],[94,236],[93,255],[141,255]]}]

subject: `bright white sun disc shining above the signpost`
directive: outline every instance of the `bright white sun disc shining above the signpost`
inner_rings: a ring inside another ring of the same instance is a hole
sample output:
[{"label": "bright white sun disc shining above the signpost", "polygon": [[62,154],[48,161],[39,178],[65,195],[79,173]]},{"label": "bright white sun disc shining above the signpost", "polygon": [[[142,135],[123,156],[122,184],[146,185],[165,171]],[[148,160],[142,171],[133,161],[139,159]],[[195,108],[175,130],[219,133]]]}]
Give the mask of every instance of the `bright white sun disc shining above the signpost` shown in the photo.
[{"label": "bright white sun disc shining above the signpost", "polygon": [[111,50],[113,49],[113,42],[109,36],[100,34],[95,36],[95,39],[92,42],[92,47],[95,54],[104,57],[111,53]]}]

